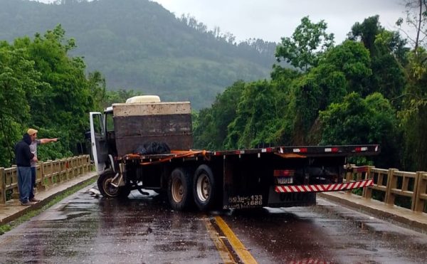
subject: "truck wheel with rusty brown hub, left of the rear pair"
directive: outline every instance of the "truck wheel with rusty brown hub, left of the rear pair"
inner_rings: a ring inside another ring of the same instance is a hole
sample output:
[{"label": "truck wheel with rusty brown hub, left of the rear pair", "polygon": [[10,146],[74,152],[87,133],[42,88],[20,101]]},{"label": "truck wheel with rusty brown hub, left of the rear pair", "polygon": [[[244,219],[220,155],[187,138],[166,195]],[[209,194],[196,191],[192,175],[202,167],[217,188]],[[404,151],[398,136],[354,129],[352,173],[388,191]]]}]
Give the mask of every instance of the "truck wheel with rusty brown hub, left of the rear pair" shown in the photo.
[{"label": "truck wheel with rusty brown hub, left of the rear pair", "polygon": [[172,171],[167,196],[169,204],[174,210],[183,211],[191,207],[193,203],[191,186],[191,176],[187,169],[176,168]]}]

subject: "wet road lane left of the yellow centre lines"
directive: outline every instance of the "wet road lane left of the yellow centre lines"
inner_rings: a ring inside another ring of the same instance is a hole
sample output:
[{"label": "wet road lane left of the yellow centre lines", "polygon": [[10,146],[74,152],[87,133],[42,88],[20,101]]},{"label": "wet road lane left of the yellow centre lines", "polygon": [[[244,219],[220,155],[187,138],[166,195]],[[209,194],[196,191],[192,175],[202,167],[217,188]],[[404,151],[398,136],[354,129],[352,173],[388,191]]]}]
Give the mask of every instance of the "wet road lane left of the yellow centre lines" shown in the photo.
[{"label": "wet road lane left of the yellow centre lines", "polygon": [[[133,194],[133,193],[132,193]],[[221,263],[199,213],[80,192],[0,236],[4,263]]]}]

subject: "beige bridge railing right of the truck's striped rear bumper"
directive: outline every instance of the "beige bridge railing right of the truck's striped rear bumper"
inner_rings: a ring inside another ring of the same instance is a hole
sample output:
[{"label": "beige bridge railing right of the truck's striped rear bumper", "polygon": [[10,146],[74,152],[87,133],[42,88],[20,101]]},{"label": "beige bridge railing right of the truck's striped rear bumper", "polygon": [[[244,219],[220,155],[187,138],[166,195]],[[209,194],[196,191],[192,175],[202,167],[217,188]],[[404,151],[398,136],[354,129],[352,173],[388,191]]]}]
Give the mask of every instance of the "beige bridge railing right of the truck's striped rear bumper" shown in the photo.
[{"label": "beige bridge railing right of the truck's striped rear bumper", "polygon": [[357,191],[346,192],[363,196],[365,199],[376,199],[385,204],[408,208],[412,211],[426,212],[427,172],[378,169],[371,166],[347,168],[345,181],[361,179],[374,179],[374,185],[364,188],[359,193]]}]

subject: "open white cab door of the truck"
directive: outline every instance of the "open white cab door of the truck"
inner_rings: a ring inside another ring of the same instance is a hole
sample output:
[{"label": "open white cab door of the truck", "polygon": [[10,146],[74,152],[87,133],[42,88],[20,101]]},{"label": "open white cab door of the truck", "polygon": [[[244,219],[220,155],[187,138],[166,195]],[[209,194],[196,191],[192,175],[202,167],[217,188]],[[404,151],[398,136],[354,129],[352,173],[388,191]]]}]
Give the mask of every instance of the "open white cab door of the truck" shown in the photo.
[{"label": "open white cab door of the truck", "polygon": [[105,170],[108,159],[107,137],[105,136],[104,115],[100,112],[90,112],[90,143],[92,146],[93,162],[96,171],[101,174]]}]

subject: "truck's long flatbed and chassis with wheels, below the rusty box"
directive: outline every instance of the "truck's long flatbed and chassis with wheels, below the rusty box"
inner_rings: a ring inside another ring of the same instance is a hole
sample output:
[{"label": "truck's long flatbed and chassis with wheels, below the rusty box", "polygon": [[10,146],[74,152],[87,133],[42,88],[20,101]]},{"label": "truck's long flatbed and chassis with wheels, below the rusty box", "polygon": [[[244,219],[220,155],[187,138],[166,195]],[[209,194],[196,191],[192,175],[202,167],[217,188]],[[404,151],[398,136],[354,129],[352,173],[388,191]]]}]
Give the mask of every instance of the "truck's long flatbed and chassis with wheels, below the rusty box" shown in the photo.
[{"label": "truck's long flatbed and chassis with wheels, below the rusty box", "polygon": [[268,147],[223,152],[172,151],[126,154],[98,179],[101,194],[127,196],[132,189],[167,194],[175,210],[310,206],[320,191],[373,184],[343,183],[346,157],[379,152],[379,146]]}]

